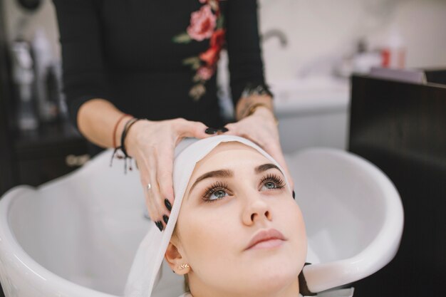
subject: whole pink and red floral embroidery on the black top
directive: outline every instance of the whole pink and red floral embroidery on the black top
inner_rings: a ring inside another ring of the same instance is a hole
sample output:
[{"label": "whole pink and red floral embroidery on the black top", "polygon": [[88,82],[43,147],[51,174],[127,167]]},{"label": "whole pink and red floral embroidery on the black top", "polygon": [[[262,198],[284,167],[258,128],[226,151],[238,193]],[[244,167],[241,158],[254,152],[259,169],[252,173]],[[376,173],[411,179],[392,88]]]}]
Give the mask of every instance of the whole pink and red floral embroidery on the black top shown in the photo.
[{"label": "whole pink and red floral embroidery on the black top", "polygon": [[209,39],[207,51],[183,59],[183,65],[190,66],[196,71],[192,81],[194,85],[189,91],[194,100],[206,93],[205,83],[212,78],[217,70],[219,54],[224,46],[224,19],[219,7],[219,0],[198,0],[204,4],[198,11],[192,12],[190,25],[186,31],[172,38],[174,43],[190,43],[192,41],[203,41]]}]

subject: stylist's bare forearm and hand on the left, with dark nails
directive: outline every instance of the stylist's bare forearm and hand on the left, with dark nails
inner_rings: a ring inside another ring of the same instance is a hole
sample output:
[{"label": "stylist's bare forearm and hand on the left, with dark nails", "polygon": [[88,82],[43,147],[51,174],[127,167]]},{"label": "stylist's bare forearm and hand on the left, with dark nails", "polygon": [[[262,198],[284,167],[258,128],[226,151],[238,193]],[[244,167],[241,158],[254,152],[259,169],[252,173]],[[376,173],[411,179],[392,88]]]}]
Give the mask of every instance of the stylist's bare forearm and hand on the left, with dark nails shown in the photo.
[{"label": "stylist's bare forearm and hand on the left, with dark nails", "polygon": [[[132,118],[124,115],[107,100],[92,99],[81,105],[78,127],[88,140],[97,145],[113,147],[115,143],[120,146],[125,123]],[[167,224],[173,205],[172,170],[175,146],[184,137],[209,137],[204,132],[206,129],[207,126],[203,123],[176,118],[161,121],[139,120],[128,130],[125,150],[138,164],[145,203],[150,218],[160,230]]]}]

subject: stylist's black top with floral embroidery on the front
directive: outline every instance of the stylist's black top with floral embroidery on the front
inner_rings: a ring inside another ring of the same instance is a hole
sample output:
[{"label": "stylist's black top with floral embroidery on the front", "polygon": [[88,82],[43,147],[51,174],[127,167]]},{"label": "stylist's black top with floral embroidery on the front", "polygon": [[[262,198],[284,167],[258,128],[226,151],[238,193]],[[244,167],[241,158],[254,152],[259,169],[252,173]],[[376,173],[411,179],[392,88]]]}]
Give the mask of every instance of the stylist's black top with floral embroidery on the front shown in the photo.
[{"label": "stylist's black top with floral embroidery on the front", "polygon": [[263,84],[256,0],[53,0],[71,119],[86,100],[110,100],[149,120],[219,115],[215,68],[229,55],[234,105]]}]

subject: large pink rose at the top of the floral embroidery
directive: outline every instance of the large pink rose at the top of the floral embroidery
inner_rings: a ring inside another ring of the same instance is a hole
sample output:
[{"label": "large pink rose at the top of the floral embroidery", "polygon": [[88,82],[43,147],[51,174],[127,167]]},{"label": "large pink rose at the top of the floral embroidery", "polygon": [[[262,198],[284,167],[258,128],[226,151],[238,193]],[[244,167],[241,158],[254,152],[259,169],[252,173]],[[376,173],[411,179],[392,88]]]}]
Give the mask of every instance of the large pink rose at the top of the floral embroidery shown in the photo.
[{"label": "large pink rose at the top of the floral embroidery", "polygon": [[216,21],[217,16],[212,14],[211,6],[204,5],[190,16],[190,26],[187,27],[187,33],[192,39],[202,41],[212,36]]}]

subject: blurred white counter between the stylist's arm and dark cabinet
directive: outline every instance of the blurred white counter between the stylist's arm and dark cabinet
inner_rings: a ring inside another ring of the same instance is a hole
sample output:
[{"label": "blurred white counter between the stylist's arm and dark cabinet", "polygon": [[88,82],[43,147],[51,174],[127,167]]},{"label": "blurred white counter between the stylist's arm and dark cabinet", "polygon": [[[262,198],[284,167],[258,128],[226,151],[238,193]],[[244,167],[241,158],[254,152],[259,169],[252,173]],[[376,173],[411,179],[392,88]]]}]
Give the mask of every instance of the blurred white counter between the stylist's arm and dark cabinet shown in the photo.
[{"label": "blurred white counter between the stylist's arm and dark cabinet", "polygon": [[315,146],[346,150],[348,81],[308,78],[270,85],[284,152]]}]

